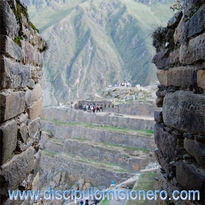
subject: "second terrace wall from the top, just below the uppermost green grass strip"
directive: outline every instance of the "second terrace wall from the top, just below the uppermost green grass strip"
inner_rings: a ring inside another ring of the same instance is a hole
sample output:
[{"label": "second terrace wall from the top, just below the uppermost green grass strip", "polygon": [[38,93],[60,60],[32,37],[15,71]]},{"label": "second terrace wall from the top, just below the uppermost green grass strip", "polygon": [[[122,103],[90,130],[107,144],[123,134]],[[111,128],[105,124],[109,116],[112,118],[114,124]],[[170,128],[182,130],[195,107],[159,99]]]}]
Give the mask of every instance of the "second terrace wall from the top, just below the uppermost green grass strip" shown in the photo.
[{"label": "second terrace wall from the top, just below the uppermost green grass strip", "polygon": [[97,129],[94,127],[84,127],[84,126],[66,126],[57,125],[52,122],[41,120],[41,130],[49,131],[51,135],[56,136],[60,139],[66,138],[83,138],[90,142],[118,144],[121,146],[129,147],[141,147],[151,151],[156,148],[152,135],[147,135],[145,133],[119,133],[109,130]]}]

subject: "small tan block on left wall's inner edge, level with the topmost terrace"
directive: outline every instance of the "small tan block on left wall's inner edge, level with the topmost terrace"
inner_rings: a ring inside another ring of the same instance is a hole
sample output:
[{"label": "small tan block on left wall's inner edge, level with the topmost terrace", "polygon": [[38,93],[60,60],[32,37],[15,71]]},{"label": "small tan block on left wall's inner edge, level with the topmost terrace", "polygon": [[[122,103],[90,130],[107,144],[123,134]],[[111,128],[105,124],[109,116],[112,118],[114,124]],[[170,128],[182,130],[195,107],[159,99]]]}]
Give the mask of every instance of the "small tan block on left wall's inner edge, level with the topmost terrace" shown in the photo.
[{"label": "small tan block on left wall's inner edge, level with the topmost terrace", "polygon": [[28,108],[29,119],[34,120],[42,114],[42,98]]}]

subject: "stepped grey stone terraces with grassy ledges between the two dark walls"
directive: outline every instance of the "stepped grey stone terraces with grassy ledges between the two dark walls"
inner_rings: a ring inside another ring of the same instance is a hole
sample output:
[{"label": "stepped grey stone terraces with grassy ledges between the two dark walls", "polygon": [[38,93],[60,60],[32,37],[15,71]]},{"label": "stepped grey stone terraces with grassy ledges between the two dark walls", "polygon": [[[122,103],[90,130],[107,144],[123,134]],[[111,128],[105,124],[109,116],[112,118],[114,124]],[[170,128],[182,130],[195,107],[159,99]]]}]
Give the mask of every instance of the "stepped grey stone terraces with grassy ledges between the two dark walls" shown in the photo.
[{"label": "stepped grey stone terraces with grassy ledges between the two dark walls", "polygon": [[139,116],[106,115],[44,109],[42,173],[65,171],[74,181],[83,178],[93,186],[109,187],[112,181],[125,181],[155,161],[151,116],[139,123]]}]

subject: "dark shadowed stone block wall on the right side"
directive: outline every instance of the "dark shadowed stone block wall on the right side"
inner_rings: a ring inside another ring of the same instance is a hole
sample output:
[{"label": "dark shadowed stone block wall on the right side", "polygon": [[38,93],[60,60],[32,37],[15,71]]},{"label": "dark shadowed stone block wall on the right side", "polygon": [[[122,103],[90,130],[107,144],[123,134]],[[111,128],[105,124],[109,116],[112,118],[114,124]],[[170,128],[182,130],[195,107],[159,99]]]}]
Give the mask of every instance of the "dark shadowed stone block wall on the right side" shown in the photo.
[{"label": "dark shadowed stone block wall on the right side", "polygon": [[200,190],[205,204],[205,1],[185,0],[184,11],[153,37],[162,107],[155,113],[159,185],[170,193]]}]

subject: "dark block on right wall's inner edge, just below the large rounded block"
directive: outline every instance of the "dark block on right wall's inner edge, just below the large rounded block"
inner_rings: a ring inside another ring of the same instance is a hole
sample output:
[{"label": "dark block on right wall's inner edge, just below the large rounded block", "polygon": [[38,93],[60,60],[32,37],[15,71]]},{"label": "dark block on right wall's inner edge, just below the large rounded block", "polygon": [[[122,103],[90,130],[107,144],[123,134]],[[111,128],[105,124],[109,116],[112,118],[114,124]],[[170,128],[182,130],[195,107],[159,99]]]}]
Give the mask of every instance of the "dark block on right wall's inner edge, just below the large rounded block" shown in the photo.
[{"label": "dark block on right wall's inner edge, just below the large rounded block", "polygon": [[155,125],[155,143],[158,146],[158,149],[163,153],[165,157],[174,159],[175,150],[177,149],[177,139],[175,136],[172,136],[167,131],[164,130],[163,125]]}]

